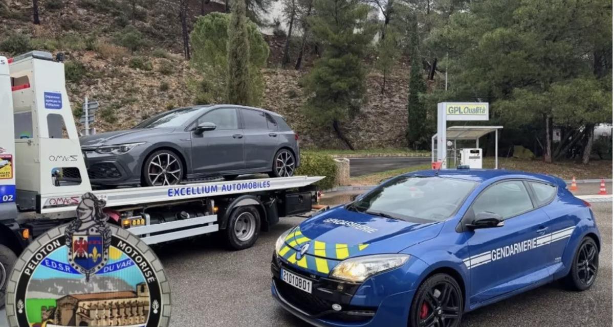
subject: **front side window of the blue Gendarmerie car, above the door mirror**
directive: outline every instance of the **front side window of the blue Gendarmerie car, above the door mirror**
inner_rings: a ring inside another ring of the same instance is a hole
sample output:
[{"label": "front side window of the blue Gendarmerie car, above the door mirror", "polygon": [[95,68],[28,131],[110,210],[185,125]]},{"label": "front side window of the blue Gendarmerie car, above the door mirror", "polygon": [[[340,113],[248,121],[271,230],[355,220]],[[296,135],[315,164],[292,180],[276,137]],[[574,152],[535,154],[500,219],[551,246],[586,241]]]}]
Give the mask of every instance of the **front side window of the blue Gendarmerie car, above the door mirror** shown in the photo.
[{"label": "front side window of the blue Gendarmerie car, above the door mirror", "polygon": [[529,192],[521,180],[500,182],[484,190],[473,201],[473,214],[494,212],[503,219],[511,218],[533,209]]}]

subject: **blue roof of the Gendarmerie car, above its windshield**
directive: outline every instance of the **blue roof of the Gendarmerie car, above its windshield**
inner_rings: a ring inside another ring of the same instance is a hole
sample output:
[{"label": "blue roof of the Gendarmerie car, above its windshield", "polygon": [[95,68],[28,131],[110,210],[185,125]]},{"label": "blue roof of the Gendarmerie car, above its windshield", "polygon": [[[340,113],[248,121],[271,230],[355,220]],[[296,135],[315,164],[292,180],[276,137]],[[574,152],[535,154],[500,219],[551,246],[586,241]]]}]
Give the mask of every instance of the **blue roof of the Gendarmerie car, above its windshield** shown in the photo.
[{"label": "blue roof of the Gendarmerie car, above its windshield", "polygon": [[533,179],[541,180],[543,182],[557,184],[559,186],[565,185],[565,182],[558,177],[554,177],[546,174],[536,174],[533,172],[524,171],[508,171],[507,169],[441,169],[436,171],[435,169],[429,169],[424,171],[414,171],[405,174],[407,176],[418,175],[425,177],[448,177],[454,179],[471,180],[473,182],[488,182],[494,179],[503,179],[505,177],[521,178],[521,179]]}]

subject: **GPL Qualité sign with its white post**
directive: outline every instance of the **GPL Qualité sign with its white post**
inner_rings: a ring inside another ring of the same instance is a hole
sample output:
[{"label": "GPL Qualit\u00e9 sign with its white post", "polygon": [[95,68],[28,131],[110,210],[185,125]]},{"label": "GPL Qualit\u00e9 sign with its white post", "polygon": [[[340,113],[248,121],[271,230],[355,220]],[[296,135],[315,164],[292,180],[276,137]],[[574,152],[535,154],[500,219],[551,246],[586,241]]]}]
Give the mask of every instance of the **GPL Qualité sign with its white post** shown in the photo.
[{"label": "GPL Qualit\u00e9 sign with its white post", "polygon": [[447,121],[488,120],[488,102],[440,102],[437,104],[437,161],[446,167]]}]

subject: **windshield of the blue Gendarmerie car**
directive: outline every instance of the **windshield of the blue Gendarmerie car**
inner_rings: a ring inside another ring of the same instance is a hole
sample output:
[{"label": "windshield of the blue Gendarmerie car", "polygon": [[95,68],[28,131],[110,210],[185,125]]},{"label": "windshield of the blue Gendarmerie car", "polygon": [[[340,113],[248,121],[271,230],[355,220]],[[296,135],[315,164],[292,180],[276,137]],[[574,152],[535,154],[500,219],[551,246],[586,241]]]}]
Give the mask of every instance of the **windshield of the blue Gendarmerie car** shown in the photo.
[{"label": "windshield of the blue Gendarmerie car", "polygon": [[416,223],[442,221],[456,212],[476,185],[445,177],[399,176],[346,208]]}]

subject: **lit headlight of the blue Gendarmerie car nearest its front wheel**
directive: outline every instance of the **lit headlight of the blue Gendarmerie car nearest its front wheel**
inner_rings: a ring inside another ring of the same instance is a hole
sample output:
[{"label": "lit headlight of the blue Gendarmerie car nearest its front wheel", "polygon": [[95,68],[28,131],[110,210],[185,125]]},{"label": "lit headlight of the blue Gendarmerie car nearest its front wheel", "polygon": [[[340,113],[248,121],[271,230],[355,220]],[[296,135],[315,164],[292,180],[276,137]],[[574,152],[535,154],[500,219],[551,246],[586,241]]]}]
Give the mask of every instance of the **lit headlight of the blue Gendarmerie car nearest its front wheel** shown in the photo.
[{"label": "lit headlight of the blue Gendarmerie car nearest its front wheel", "polygon": [[410,255],[367,255],[341,261],[333,268],[330,277],[362,283],[369,277],[402,266]]}]

